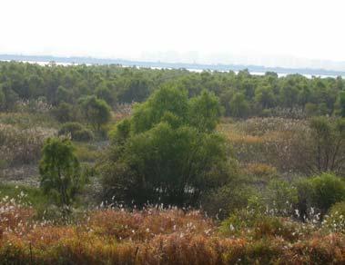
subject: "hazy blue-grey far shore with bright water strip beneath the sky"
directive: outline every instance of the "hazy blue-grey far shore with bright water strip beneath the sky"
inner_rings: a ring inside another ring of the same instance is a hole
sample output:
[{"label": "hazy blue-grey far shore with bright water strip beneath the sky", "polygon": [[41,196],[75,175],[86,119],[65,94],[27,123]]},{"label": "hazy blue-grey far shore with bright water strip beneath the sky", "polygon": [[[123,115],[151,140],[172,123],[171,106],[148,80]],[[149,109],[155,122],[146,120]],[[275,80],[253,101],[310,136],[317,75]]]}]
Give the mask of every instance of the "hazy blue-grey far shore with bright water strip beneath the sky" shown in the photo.
[{"label": "hazy blue-grey far shore with bright water strip beneath the sky", "polygon": [[245,65],[245,64],[186,64],[186,63],[164,63],[164,62],[141,62],[130,61],[123,59],[107,59],[94,57],[59,57],[51,55],[22,55],[22,54],[0,54],[0,61],[27,61],[27,62],[55,62],[59,64],[120,64],[123,66],[138,66],[147,68],[161,68],[161,69],[187,69],[190,71],[234,71],[248,69],[250,73],[264,74],[266,72],[275,72],[280,75],[285,74],[303,74],[309,77],[345,77],[345,72],[312,69],[312,68],[284,68],[284,67],[265,67],[259,65]]}]

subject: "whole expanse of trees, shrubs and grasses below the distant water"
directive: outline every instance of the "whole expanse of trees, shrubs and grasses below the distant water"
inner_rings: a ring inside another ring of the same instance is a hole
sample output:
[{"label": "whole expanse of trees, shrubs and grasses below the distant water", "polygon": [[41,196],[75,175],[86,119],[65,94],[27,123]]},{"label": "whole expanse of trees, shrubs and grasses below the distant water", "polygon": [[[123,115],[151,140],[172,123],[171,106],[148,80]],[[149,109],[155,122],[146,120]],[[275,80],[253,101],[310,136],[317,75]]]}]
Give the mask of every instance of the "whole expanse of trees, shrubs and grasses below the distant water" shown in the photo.
[{"label": "whole expanse of trees, shrubs and grasses below the distant water", "polygon": [[0,260],[343,264],[344,87],[0,63]]}]

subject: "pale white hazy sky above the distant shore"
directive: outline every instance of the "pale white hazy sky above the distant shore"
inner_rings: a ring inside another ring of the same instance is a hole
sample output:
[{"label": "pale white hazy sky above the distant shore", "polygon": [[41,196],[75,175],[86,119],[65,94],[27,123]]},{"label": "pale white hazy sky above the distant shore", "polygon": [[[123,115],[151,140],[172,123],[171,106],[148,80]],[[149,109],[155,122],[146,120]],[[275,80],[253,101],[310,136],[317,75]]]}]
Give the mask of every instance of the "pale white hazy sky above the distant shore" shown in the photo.
[{"label": "pale white hazy sky above the distant shore", "polygon": [[345,69],[343,0],[0,0],[0,54]]}]

